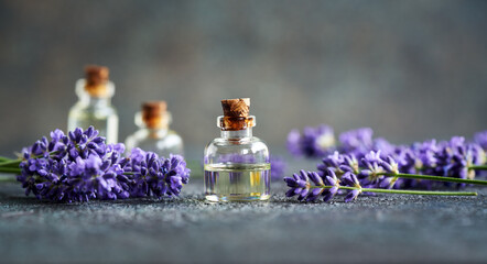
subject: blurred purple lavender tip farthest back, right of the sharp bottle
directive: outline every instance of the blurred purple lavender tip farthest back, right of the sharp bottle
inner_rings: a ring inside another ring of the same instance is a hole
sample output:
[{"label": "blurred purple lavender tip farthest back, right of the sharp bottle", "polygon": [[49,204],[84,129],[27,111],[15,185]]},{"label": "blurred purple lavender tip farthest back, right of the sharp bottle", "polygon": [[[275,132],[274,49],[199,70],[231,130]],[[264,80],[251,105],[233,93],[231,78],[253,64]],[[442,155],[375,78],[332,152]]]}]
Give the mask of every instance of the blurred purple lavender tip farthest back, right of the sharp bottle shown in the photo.
[{"label": "blurred purple lavender tip farthest back, right of the sharp bottle", "polygon": [[303,133],[292,130],[288,134],[288,150],[295,156],[321,157],[335,146],[333,129],[326,124],[306,127]]}]

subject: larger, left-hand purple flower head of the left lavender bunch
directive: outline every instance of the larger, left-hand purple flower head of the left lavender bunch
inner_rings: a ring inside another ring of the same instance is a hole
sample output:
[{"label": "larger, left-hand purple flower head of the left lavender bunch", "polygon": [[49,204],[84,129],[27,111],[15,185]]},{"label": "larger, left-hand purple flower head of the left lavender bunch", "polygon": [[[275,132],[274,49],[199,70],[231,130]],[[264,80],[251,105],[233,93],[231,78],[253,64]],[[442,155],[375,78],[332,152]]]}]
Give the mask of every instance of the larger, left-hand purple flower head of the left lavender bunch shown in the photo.
[{"label": "larger, left-hand purple flower head of the left lavender bunch", "polygon": [[39,199],[87,201],[91,198],[127,198],[118,184],[123,170],[119,163],[122,145],[106,145],[90,127],[76,129],[68,136],[61,130],[23,150],[18,180]]}]

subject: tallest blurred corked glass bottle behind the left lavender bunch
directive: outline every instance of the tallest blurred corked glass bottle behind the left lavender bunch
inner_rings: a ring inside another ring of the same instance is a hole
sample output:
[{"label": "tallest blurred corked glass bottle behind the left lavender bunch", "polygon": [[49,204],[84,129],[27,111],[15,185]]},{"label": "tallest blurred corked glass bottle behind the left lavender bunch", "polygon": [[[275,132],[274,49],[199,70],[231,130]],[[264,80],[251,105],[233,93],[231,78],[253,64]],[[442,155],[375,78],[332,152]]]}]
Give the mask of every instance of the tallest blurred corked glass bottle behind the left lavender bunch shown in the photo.
[{"label": "tallest blurred corked glass bottle behind the left lavender bunch", "polygon": [[108,68],[88,66],[86,78],[76,82],[78,102],[69,111],[67,129],[88,129],[93,125],[107,143],[118,142],[118,114],[111,106],[115,85],[108,79]]}]

